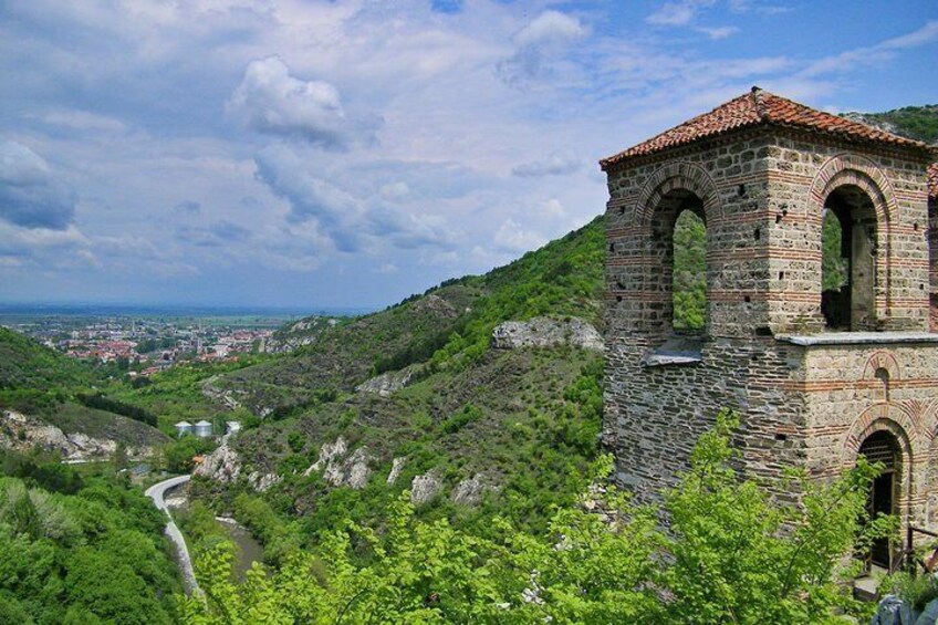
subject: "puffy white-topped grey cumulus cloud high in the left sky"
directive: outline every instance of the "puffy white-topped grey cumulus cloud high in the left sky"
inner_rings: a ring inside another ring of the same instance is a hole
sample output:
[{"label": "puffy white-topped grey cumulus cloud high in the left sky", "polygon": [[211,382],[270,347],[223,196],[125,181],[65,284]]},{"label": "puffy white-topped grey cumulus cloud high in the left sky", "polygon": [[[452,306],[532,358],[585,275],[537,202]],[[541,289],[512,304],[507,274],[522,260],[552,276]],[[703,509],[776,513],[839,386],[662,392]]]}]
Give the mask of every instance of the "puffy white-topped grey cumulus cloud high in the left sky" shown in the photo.
[{"label": "puffy white-topped grey cumulus cloud high in the left sky", "polygon": [[325,81],[291,75],[280,56],[252,61],[226,112],[254,132],[300,138],[326,148],[343,148],[369,135],[374,121],[350,119],[338,90]]}]

